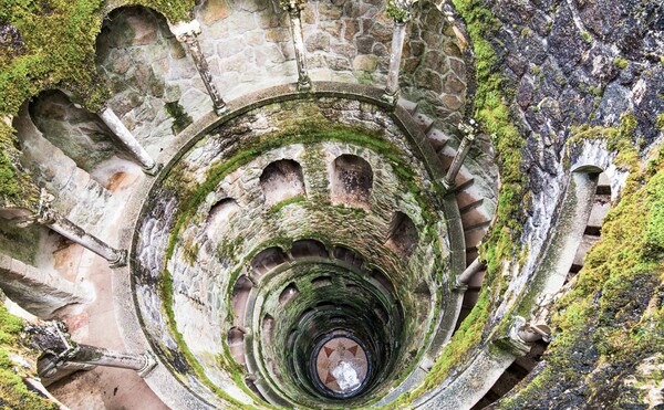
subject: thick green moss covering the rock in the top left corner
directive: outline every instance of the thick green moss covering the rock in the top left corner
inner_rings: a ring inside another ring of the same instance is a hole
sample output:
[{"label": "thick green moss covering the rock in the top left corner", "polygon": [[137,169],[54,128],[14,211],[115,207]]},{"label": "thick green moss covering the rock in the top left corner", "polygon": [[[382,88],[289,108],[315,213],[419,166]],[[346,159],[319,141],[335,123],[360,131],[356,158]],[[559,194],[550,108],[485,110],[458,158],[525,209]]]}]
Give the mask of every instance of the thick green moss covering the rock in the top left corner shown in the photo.
[{"label": "thick green moss covering the rock in the top left corner", "polygon": [[1,119],[45,90],[68,90],[95,112],[108,97],[96,74],[95,40],[112,8],[144,6],[168,20],[189,19],[194,0],[0,0],[0,28],[12,41],[0,44],[0,204],[38,201],[30,177],[18,167],[14,135]]}]

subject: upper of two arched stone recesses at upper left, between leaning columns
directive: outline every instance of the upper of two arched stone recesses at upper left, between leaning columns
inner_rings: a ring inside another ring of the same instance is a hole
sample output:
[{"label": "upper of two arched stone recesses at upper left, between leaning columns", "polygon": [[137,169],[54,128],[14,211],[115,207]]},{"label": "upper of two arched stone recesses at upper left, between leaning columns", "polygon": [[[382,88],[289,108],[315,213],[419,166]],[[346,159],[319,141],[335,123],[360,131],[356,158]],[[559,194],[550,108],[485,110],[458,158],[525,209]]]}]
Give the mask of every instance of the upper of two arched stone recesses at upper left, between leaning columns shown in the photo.
[{"label": "upper of two arched stone recesses at upper left, between leaning columns", "polygon": [[111,13],[96,51],[97,70],[113,94],[108,106],[151,156],[173,136],[166,103],[177,102],[195,119],[212,109],[191,57],[155,12],[126,8]]}]

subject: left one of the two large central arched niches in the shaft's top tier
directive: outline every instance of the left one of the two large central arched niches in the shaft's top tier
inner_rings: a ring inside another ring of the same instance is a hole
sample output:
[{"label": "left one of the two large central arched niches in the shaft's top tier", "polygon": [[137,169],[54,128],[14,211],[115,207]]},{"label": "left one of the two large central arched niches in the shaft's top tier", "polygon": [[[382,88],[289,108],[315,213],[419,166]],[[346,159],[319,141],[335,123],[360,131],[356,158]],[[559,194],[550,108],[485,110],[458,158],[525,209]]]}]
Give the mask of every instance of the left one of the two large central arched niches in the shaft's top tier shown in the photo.
[{"label": "left one of the two large central arched niches in the shaft's top tier", "polygon": [[307,193],[302,167],[292,159],[281,159],[268,165],[260,176],[260,187],[269,207]]}]

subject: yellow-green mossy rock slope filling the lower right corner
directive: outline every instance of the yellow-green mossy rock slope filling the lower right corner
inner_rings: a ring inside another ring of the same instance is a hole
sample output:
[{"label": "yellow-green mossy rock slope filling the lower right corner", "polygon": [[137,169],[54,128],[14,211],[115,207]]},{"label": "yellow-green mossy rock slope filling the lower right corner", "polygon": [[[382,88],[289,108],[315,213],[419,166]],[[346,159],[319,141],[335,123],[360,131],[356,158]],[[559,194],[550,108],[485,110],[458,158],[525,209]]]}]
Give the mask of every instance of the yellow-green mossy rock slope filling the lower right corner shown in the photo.
[{"label": "yellow-green mossy rock slope filling the lower right corner", "polygon": [[[632,127],[627,115],[621,127],[604,130],[604,136],[618,138]],[[623,139],[629,149],[630,138]],[[637,396],[645,391],[629,391],[622,381],[633,377],[640,362],[664,350],[664,148],[647,167],[630,164],[622,199],[604,218],[601,240],[587,254],[575,285],[552,308],[556,339],[547,366],[504,400],[502,408],[542,403],[552,387],[577,390],[587,402],[614,395],[615,403],[643,403]],[[585,370],[580,372],[579,366]],[[562,400],[546,403],[564,407]]]}]

